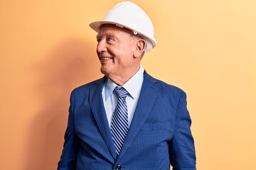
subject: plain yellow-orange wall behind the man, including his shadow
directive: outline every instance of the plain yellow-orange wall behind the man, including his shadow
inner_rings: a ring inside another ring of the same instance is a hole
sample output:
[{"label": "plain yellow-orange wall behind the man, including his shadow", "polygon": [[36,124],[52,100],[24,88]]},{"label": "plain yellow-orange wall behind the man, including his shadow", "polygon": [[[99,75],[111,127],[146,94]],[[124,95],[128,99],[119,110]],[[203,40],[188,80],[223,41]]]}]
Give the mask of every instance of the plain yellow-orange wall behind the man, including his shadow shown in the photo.
[{"label": "plain yellow-orange wall behind the man, including his shadow", "polygon": [[[70,91],[102,77],[88,24],[119,1],[0,1],[0,169],[50,170]],[[157,45],[142,64],[188,95],[199,170],[256,169],[256,1],[134,1]]]}]

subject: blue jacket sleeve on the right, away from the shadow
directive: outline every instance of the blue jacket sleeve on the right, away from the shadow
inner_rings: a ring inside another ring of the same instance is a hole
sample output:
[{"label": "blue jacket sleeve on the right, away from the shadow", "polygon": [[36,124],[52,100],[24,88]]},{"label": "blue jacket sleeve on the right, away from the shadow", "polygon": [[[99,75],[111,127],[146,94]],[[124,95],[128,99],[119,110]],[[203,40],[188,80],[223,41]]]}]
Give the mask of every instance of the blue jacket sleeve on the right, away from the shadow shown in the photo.
[{"label": "blue jacket sleeve on the right, away from the shadow", "polygon": [[191,118],[186,104],[186,94],[182,91],[176,111],[174,138],[169,144],[173,170],[196,170],[196,152],[190,129]]}]

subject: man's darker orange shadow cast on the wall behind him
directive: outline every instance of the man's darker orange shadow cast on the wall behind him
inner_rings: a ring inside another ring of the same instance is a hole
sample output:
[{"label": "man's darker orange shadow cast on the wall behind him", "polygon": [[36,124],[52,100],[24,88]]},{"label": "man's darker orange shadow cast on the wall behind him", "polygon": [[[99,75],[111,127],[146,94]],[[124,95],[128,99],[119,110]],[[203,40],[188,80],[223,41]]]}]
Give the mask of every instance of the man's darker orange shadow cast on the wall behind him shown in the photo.
[{"label": "man's darker orange shadow cast on the wall behind him", "polygon": [[95,49],[85,40],[68,40],[31,70],[36,72],[35,93],[42,108],[28,132],[24,170],[56,169],[68,123],[70,92],[102,77]]}]

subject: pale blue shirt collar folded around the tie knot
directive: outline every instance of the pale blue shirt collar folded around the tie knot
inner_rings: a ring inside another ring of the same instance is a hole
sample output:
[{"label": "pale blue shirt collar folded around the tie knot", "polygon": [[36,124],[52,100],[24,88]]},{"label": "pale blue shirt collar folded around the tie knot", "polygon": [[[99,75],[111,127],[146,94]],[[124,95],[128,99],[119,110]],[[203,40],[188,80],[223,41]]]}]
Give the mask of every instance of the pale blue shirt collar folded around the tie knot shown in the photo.
[{"label": "pale blue shirt collar folded around the tie knot", "polygon": [[[143,83],[143,73],[144,73],[144,68],[141,65],[139,67],[139,71],[136,72],[136,74],[134,74],[134,76],[123,85],[124,89],[126,89],[128,91],[129,95],[133,99],[139,97],[139,91],[140,91],[140,89],[142,87],[142,83]],[[134,84],[136,86],[134,86]],[[107,78],[107,82],[105,85],[105,93],[106,93],[105,100],[107,100],[107,98],[110,97],[110,95],[112,94],[112,92],[116,86],[117,86],[117,84],[115,84],[111,79]]]}]

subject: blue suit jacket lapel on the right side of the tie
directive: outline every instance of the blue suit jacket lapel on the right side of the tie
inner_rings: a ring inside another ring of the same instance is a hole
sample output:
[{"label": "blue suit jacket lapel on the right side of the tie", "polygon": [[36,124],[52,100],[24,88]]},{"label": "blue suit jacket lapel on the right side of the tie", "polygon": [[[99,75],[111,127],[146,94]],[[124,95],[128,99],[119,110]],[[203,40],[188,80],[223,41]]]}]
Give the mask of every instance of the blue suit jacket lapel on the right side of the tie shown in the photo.
[{"label": "blue suit jacket lapel on the right side of the tie", "polygon": [[156,100],[157,91],[158,88],[156,86],[156,80],[144,72],[142,91],[139,96],[137,108],[134,112],[134,117],[129,127],[128,134],[125,138],[121,152],[119,153],[119,158],[122,157],[127,148],[132,144],[134,138],[137,136],[137,133],[142,128],[142,125],[144,125],[146,118],[151,111],[151,107]]}]

